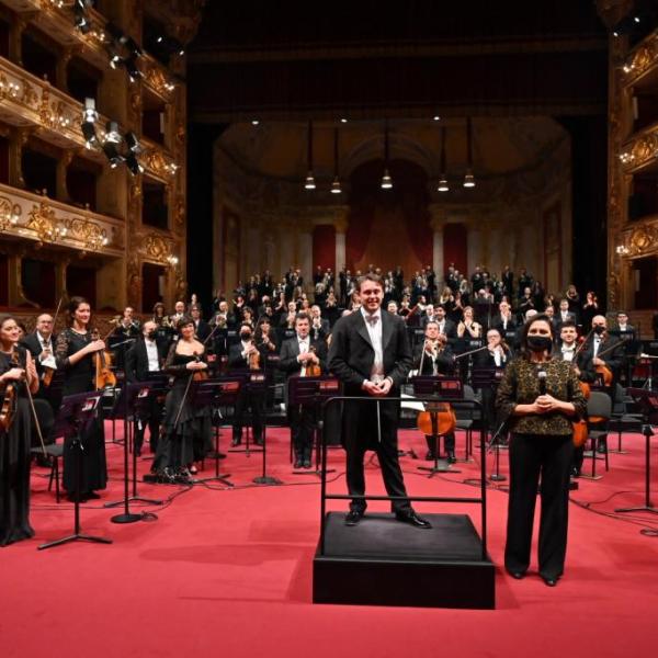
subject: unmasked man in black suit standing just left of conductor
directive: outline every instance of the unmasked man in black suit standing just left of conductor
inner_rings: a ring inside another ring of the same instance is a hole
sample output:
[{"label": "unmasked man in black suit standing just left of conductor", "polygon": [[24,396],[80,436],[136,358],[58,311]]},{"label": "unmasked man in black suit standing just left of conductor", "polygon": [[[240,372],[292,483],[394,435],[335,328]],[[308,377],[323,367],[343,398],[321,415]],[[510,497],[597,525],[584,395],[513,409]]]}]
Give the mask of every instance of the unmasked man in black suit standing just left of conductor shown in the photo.
[{"label": "unmasked man in black suit standing just left of conductor", "polygon": [[[305,313],[295,318],[295,338],[290,338],[281,345],[279,368],[286,373],[290,381],[293,375],[306,375],[308,365],[319,365],[320,371],[327,366],[327,343],[322,339],[311,338],[310,318]],[[295,450],[294,468],[310,468],[313,451],[313,424],[315,410],[290,404],[286,386],[286,408],[291,424],[293,447]]]}]

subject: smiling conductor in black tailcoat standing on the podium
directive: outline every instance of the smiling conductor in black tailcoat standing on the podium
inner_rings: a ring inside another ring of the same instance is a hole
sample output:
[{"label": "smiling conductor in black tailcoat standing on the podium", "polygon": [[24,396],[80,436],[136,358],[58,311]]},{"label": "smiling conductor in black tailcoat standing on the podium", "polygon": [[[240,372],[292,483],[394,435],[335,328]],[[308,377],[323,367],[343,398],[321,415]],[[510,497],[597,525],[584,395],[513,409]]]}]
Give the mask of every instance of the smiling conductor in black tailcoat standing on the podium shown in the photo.
[{"label": "smiling conductor in black tailcoat standing on the podium", "polygon": [[[344,395],[377,400],[344,402],[342,440],[349,492],[365,495],[363,458],[366,451],[374,450],[388,496],[401,497],[392,501],[396,519],[417,527],[431,527],[405,499],[397,445],[400,405],[386,401],[387,397],[399,397],[400,385],[411,368],[405,321],[382,309],[384,288],[376,274],[362,276],[356,294],[360,308],[336,322],[329,348],[329,370],[343,383]],[[352,499],[345,525],[356,525],[365,509],[364,499]]]}]

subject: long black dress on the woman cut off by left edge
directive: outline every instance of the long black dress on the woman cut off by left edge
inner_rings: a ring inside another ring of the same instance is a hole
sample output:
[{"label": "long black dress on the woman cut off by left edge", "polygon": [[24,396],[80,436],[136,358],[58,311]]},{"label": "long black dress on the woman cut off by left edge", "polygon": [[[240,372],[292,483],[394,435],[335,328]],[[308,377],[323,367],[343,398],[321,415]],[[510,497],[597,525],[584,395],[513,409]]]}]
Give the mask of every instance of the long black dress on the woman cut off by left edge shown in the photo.
[{"label": "long black dress on the woman cut off by left edge", "polygon": [[[25,368],[24,348],[16,348],[14,354],[16,362],[0,352],[0,375],[12,367]],[[25,386],[20,383],[14,389],[15,412],[9,431],[0,430],[0,546],[34,536],[30,525],[30,402]]]}]

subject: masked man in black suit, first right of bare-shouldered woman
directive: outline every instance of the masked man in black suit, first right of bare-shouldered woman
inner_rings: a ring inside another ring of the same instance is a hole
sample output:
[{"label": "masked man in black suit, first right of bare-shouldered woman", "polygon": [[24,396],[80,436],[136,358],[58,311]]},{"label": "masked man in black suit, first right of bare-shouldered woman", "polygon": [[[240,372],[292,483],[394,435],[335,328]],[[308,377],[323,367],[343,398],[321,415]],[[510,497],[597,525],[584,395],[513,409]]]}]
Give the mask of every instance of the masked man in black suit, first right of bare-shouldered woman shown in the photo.
[{"label": "masked man in black suit, first right of bare-shouldered woman", "polygon": [[[228,351],[228,367],[234,371],[263,371],[265,350],[259,349],[253,340],[249,322],[240,325],[240,342],[231,345]],[[242,443],[242,427],[247,408],[251,409],[253,440],[257,445],[263,444],[263,426],[265,417],[265,396],[262,392],[250,390],[243,386],[236,400],[231,446]]]}]

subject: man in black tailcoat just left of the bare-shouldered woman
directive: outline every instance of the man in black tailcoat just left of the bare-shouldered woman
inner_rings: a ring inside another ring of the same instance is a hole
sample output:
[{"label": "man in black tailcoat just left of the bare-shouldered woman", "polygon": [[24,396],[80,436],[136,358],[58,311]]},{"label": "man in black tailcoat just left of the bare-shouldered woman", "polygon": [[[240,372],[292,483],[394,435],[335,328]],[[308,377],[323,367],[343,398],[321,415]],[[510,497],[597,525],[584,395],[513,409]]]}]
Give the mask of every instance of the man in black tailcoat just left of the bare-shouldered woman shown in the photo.
[{"label": "man in black tailcoat just left of the bare-shouldered woman", "polygon": [[[163,352],[157,342],[157,325],[147,320],[141,327],[141,337],[128,350],[126,354],[126,379],[129,384],[146,382],[149,373],[162,371],[164,364]],[[148,408],[143,409],[141,418],[135,419],[135,452],[141,455],[144,444],[145,422],[148,423],[150,452],[155,453],[158,447],[158,435],[160,433],[160,418],[162,417],[162,405],[155,396],[149,396]]]}]

